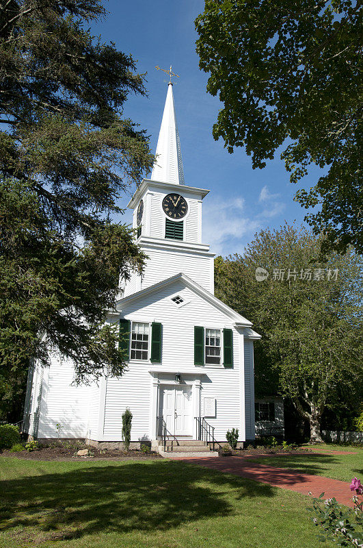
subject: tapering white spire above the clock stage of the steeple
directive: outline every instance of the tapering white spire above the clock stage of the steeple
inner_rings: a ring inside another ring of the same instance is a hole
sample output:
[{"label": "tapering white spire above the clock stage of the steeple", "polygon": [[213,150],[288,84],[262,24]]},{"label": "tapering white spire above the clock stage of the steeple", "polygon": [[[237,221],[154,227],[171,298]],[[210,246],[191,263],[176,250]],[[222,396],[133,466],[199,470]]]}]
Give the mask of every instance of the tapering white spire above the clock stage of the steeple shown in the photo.
[{"label": "tapering white spire above the clock stage of the steeple", "polygon": [[162,183],[184,184],[178,126],[174,111],[173,86],[167,86],[167,95],[157,141],[157,160],[152,168],[151,179]]}]

